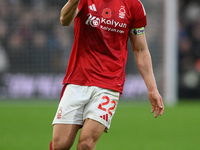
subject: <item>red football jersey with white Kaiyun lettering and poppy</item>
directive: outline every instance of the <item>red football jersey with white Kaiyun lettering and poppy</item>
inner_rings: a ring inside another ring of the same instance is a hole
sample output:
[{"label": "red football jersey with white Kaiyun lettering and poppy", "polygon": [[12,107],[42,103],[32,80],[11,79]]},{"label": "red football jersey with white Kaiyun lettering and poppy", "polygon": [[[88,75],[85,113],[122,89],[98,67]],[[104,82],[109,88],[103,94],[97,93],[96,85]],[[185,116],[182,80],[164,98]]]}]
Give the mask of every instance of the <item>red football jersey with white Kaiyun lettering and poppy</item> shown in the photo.
[{"label": "red football jersey with white Kaiyun lettering and poppy", "polygon": [[63,84],[97,86],[122,93],[127,40],[146,26],[139,0],[80,0],[74,44]]}]

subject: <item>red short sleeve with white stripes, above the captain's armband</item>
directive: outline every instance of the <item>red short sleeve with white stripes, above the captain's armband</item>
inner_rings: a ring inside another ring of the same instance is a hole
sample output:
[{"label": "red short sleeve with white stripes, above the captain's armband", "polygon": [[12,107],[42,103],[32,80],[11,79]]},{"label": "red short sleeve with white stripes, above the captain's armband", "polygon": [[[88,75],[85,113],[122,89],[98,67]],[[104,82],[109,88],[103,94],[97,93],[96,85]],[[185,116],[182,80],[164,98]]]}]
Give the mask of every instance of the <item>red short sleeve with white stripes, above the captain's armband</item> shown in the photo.
[{"label": "red short sleeve with white stripes, above the captain's armband", "polygon": [[132,21],[131,21],[131,29],[132,28],[141,28],[147,25],[146,20],[146,11],[140,0],[136,0],[133,3],[132,10]]}]

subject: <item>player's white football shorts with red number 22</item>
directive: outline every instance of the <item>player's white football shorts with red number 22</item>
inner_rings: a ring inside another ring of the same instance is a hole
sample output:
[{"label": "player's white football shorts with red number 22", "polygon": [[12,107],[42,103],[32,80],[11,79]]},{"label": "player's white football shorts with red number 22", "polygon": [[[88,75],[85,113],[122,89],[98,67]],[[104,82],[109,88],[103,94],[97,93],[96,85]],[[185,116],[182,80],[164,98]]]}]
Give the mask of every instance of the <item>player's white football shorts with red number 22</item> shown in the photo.
[{"label": "player's white football shorts with red number 22", "polygon": [[95,120],[110,128],[120,93],[96,86],[68,84],[60,99],[54,124],[83,125],[85,119]]}]

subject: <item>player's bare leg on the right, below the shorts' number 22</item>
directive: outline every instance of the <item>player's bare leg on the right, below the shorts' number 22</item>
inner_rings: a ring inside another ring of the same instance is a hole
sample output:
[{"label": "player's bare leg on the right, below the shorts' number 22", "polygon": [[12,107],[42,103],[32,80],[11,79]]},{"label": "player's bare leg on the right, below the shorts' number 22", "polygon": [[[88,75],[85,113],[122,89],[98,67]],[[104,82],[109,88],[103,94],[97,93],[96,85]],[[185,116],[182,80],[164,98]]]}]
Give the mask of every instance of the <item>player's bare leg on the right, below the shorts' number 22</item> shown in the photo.
[{"label": "player's bare leg on the right, below the shorts' number 22", "polygon": [[92,119],[86,119],[81,129],[77,150],[94,150],[105,126]]}]

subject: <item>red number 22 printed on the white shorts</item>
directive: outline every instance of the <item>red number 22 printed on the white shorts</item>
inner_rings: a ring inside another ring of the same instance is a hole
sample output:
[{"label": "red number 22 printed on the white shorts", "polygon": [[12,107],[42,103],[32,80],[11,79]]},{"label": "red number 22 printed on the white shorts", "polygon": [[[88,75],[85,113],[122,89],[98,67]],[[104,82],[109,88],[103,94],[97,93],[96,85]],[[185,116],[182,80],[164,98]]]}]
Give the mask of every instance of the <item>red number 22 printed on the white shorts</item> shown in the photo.
[{"label": "red number 22 printed on the white shorts", "polygon": [[[114,100],[110,101],[110,98],[108,96],[103,96],[102,99],[105,99],[106,101],[101,103],[101,104],[99,104],[98,108],[103,110],[103,111],[105,111],[105,112],[107,111],[112,116],[113,114],[112,114],[111,110],[115,109],[116,102]],[[103,107],[105,105],[108,105],[109,103],[114,104],[114,106],[110,107],[109,109],[106,109],[105,107]]]}]

